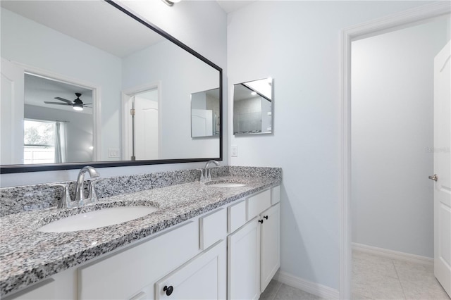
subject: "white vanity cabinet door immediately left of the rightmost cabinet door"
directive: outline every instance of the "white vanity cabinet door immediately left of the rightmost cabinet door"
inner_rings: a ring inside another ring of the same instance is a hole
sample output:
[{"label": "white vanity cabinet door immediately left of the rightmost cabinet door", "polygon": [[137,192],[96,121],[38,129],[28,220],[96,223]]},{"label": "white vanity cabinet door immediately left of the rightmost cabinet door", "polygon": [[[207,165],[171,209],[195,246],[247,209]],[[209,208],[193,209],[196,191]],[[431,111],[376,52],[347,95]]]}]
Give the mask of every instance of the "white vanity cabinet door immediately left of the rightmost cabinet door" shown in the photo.
[{"label": "white vanity cabinet door immediately left of the rightmost cabinet door", "polygon": [[259,299],[260,223],[254,218],[228,236],[228,299]]}]

